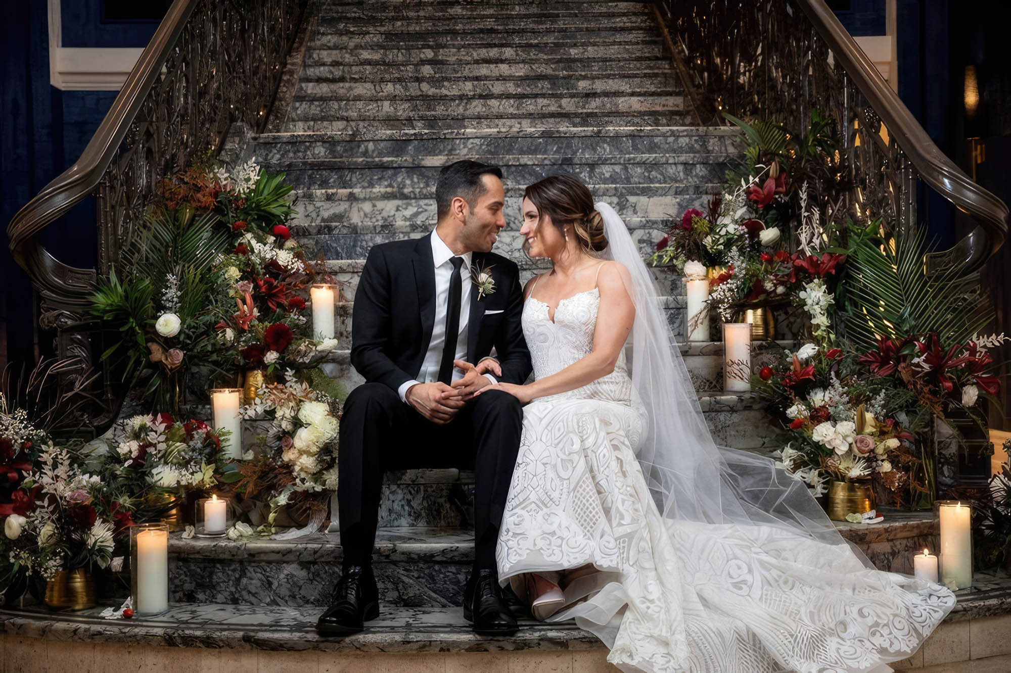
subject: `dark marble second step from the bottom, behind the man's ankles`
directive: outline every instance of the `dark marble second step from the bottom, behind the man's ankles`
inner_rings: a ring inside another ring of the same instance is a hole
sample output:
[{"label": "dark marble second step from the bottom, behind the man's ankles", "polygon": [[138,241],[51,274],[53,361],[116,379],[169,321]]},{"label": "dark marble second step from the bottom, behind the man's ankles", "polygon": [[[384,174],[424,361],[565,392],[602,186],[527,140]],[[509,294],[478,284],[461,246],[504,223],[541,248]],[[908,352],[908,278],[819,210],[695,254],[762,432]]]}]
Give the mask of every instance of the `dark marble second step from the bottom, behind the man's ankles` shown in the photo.
[{"label": "dark marble second step from the bottom, behind the man's ankles", "polygon": [[[837,523],[875,565],[912,573],[917,549],[936,549],[932,512],[884,510],[879,524]],[[459,528],[381,528],[373,569],[385,610],[454,608],[474,559],[473,534]],[[296,540],[192,538],[169,542],[170,601],[233,605],[324,606],[340,578],[340,535]]]}]

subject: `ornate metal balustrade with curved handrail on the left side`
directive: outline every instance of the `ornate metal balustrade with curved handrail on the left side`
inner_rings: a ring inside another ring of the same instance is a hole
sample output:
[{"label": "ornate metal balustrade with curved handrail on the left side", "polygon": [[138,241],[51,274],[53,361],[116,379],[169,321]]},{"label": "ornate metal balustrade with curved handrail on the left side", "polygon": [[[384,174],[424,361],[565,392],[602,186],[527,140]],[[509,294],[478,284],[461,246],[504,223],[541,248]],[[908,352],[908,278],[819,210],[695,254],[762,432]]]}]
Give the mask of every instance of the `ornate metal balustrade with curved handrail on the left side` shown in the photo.
[{"label": "ornate metal balustrade with curved handrail on the left side", "polygon": [[[106,273],[142,221],[158,181],[215,153],[236,121],[260,130],[307,0],[176,0],[81,158],[18,211],[10,249],[57,329],[61,358],[91,365],[78,324],[97,273]],[[75,269],[40,243],[47,226],[96,197],[97,269]]]}]

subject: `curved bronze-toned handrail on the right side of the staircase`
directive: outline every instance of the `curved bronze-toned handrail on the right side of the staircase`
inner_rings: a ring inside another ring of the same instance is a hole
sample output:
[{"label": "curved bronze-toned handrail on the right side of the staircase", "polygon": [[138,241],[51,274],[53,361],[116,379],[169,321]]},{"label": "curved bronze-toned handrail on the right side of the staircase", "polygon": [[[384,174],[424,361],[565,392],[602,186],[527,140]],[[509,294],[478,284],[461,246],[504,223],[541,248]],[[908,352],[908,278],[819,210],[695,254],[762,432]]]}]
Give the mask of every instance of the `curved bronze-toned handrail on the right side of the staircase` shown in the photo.
[{"label": "curved bronze-toned handrail on the right side of the staircase", "polygon": [[795,1],[828,43],[846,75],[870,103],[920,178],[976,220],[976,229],[950,251],[933,254],[931,258],[935,262],[962,262],[968,271],[979,270],[1007,237],[1007,205],[973,182],[940,151],[824,0]]}]

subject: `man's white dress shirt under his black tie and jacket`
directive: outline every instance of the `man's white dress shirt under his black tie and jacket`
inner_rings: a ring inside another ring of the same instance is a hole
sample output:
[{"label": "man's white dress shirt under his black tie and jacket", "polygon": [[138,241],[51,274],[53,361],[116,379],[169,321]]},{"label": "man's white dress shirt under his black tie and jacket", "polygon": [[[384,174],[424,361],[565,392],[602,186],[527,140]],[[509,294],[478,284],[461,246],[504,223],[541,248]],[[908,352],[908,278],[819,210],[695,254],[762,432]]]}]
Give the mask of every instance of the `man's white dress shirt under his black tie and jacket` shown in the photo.
[{"label": "man's white dress shirt under his black tie and jacket", "polygon": [[[436,319],[432,325],[432,341],[429,342],[429,350],[425,352],[425,360],[422,362],[422,371],[418,373],[416,379],[406,381],[397,389],[397,394],[404,402],[407,401],[407,389],[419,383],[432,383],[439,380],[439,366],[442,364],[443,345],[446,343],[446,317],[449,312],[449,282],[453,277],[453,264],[450,262],[455,257],[449,246],[439,236],[439,232],[432,231],[432,262],[436,268]],[[467,359],[467,322],[470,320],[470,289],[473,283],[470,282],[470,264],[473,255],[464,253],[463,265],[460,267],[461,289],[460,293],[460,333],[456,335],[456,360]],[[485,374],[491,383],[495,383],[495,378],[490,374]],[[463,372],[453,368],[453,381],[463,378]]]}]

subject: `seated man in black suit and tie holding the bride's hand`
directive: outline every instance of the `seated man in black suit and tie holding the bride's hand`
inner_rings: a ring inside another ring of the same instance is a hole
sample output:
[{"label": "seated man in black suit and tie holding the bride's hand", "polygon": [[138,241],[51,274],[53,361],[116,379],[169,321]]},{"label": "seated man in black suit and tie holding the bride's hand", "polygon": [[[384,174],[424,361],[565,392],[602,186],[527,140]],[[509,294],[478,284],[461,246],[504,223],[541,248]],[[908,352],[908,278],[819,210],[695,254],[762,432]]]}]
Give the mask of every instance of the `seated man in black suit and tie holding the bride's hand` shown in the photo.
[{"label": "seated man in black suit and tie holding the bride's hand", "polygon": [[[344,568],[323,635],[362,630],[379,614],[372,574],[382,475],[407,468],[472,468],[474,567],[464,616],[482,635],[512,635],[495,541],[520,446],[523,411],[471,363],[494,347],[501,380],[531,371],[516,264],[491,253],[505,226],[501,170],[460,161],[439,173],[438,222],[422,238],[374,247],[355,293],[351,363],[366,383],[341,418],[338,500]],[[490,281],[482,280],[490,275]]]}]

